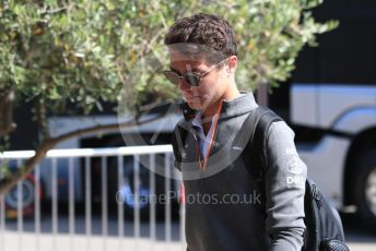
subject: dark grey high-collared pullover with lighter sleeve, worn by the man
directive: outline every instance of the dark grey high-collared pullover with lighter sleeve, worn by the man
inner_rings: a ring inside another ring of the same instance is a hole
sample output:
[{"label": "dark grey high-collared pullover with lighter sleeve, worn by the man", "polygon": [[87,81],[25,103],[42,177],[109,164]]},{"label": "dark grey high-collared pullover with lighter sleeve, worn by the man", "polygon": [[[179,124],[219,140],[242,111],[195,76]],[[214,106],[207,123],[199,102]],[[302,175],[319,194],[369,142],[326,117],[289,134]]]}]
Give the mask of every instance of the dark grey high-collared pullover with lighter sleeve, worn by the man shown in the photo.
[{"label": "dark grey high-collared pullover with lighter sleeve, worn by the man", "polygon": [[[240,157],[234,135],[257,107],[251,93],[223,100],[205,168],[198,151],[195,110],[183,104],[185,141],[174,134],[175,167],[185,187],[186,240],[189,251],[302,250],[306,165],[294,144],[294,132],[284,121],[269,129],[266,147],[265,198]],[[177,131],[176,131],[177,132]],[[235,144],[235,146],[234,146]],[[234,157],[235,156],[235,157]],[[236,157],[238,156],[238,157]],[[255,162],[256,163],[256,162]],[[251,164],[250,164],[251,165]]]}]

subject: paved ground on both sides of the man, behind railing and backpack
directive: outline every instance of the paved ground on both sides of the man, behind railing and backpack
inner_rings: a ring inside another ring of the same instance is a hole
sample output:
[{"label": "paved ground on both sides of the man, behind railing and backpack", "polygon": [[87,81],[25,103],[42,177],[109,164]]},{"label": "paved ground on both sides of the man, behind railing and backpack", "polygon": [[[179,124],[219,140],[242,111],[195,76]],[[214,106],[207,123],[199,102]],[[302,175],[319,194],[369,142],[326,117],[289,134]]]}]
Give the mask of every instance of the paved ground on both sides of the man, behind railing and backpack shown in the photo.
[{"label": "paved ground on both sides of the man, behind railing and backpack", "polygon": [[[366,226],[359,224],[353,215],[342,215],[345,226],[345,234],[351,251],[374,251],[376,250],[376,232],[366,229]],[[93,217],[92,235],[85,236],[85,220],[79,216],[75,222],[77,235],[70,236],[68,232],[68,218],[59,217],[58,235],[51,234],[51,218],[43,217],[42,234],[34,234],[34,220],[25,219],[24,232],[17,235],[16,222],[7,222],[7,228],[0,231],[0,251],[27,250],[44,251],[48,250],[184,250],[184,244],[179,242],[180,226],[177,222],[172,225],[172,241],[166,243],[164,222],[156,223],[156,237],[154,241],[150,240],[149,225],[141,223],[141,236],[138,239],[133,237],[133,223],[125,222],[124,238],[118,237],[118,226],[116,218],[108,222],[108,237],[101,235],[101,218]]]}]

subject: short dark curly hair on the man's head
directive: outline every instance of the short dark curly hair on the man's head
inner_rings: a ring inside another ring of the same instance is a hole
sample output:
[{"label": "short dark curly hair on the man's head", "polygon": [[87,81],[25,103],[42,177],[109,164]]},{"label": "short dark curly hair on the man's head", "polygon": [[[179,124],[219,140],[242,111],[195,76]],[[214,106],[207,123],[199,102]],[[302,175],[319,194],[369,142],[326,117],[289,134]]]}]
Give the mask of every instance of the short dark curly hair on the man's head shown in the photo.
[{"label": "short dark curly hair on the man's head", "polygon": [[237,56],[232,26],[223,19],[207,13],[178,20],[165,36],[164,44],[190,43],[202,45],[216,53],[205,56],[209,63],[216,63],[230,56]]}]

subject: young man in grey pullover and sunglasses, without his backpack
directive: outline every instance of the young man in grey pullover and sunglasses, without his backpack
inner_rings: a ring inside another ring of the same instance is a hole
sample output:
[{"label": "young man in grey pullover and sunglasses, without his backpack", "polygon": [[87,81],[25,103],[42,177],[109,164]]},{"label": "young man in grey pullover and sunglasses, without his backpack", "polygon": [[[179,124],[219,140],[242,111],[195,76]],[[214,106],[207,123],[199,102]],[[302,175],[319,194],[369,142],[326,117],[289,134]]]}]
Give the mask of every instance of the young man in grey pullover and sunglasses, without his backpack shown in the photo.
[{"label": "young man in grey pullover and sunglasses, without his backpack", "polygon": [[263,200],[251,167],[231,157],[242,152],[231,144],[234,135],[249,134],[239,130],[258,106],[251,93],[236,86],[232,27],[219,16],[196,14],[177,21],[165,45],[171,69],[164,74],[185,99],[177,125],[187,133],[184,142],[175,134],[173,146],[184,179],[187,250],[301,250],[306,166],[297,156],[294,132],[283,121],[269,129]]}]

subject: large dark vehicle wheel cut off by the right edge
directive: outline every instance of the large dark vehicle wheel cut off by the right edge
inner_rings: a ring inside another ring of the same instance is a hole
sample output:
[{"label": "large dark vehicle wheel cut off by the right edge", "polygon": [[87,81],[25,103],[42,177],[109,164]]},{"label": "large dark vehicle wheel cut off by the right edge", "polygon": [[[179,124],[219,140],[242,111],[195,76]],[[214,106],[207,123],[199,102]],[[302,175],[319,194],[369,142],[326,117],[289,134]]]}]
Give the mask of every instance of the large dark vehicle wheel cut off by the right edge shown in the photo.
[{"label": "large dark vehicle wheel cut off by the right edge", "polygon": [[365,226],[376,229],[376,148],[362,154],[357,164],[354,183],[357,214]]}]

